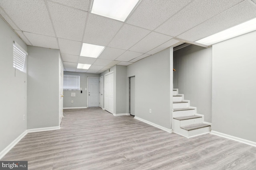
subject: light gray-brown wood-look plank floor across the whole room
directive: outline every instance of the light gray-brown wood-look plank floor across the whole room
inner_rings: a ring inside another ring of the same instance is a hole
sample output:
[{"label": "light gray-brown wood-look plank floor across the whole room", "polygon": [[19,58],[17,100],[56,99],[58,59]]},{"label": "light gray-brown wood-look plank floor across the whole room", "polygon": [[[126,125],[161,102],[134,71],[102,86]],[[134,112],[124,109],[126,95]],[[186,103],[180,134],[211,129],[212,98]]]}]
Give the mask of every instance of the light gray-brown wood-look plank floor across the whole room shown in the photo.
[{"label": "light gray-brown wood-look plank floor across the whole room", "polygon": [[28,133],[2,160],[31,170],[256,169],[256,147],[216,135],[186,139],[100,108],[64,113],[60,130]]}]

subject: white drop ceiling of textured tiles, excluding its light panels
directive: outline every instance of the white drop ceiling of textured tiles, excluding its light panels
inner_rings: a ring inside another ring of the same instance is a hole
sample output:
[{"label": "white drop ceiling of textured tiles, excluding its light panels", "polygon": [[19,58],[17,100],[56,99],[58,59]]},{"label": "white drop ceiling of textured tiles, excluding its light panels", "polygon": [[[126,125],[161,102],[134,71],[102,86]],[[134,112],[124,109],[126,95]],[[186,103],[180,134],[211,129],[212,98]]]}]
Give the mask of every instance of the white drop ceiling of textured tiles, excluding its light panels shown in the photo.
[{"label": "white drop ceiling of textured tiles, excluding its light panels", "polygon": [[[90,13],[90,0],[0,0],[27,44],[59,49],[65,71],[101,73],[256,18],[256,0],[141,0],[125,22]],[[105,46],[81,57],[82,43]],[[194,43],[196,44],[196,43]],[[78,63],[92,64],[88,70]]]}]

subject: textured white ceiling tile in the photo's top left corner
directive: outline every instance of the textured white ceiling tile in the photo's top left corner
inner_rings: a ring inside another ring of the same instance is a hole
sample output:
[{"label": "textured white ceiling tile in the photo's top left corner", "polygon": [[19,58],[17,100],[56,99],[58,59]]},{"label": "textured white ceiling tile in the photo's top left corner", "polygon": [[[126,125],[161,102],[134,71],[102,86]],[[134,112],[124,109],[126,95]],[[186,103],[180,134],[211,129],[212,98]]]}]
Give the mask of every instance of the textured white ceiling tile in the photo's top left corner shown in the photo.
[{"label": "textured white ceiling tile in the photo's top left corner", "polygon": [[54,36],[46,5],[42,0],[0,0],[0,6],[22,30]]}]

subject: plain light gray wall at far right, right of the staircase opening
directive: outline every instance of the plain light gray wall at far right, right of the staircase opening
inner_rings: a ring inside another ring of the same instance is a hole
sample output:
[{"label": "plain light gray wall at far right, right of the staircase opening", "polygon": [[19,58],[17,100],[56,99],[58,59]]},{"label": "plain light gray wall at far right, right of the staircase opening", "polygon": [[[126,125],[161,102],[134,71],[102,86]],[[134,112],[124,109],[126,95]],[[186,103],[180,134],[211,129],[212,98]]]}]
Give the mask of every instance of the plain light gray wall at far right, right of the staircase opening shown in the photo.
[{"label": "plain light gray wall at far right, right of the staircase opening", "polygon": [[256,142],[256,31],[212,46],[212,130]]}]

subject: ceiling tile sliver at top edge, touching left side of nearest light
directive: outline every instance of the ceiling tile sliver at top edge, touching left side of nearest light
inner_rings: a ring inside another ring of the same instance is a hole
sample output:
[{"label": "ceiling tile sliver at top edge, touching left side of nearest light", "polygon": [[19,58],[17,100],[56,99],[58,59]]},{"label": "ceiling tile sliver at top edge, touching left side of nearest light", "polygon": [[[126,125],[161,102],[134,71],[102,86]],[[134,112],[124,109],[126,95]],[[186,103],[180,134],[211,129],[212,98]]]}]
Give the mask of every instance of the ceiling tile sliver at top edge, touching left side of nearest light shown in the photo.
[{"label": "ceiling tile sliver at top edge, touching left side of nearest light", "polygon": [[52,0],[66,6],[88,11],[90,0]]}]

